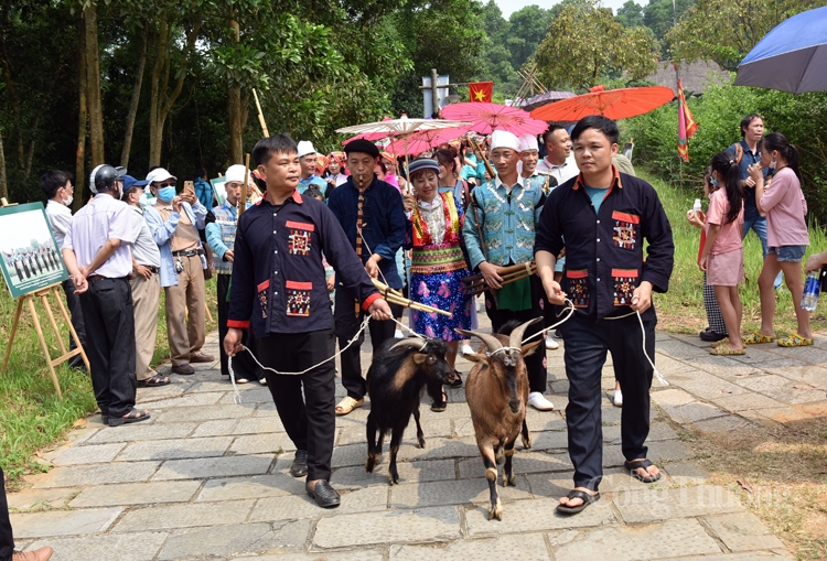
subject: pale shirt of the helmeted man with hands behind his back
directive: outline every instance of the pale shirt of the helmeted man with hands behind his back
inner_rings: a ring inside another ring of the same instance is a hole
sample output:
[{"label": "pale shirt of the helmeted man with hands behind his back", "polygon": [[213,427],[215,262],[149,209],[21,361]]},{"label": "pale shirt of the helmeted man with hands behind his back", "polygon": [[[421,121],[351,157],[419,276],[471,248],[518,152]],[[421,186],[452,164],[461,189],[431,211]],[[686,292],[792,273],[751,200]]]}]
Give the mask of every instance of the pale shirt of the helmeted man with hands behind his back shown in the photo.
[{"label": "pale shirt of the helmeted man with hands behind his back", "polygon": [[99,194],[72,217],[63,248],[74,250],[78,267],[86,267],[107,239],[119,239],[121,244],[115,253],[93,273],[119,279],[132,272],[130,246],[136,237],[129,205],[111,195]]}]

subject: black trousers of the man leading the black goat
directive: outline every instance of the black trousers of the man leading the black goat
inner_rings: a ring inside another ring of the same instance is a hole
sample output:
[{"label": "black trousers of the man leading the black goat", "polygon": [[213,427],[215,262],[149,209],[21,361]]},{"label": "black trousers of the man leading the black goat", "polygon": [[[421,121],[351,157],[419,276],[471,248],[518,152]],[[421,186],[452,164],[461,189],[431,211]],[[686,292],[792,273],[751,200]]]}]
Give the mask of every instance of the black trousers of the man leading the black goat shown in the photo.
[{"label": "black trousers of the man leading the black goat", "polygon": [[[333,330],[273,333],[258,343],[261,364],[286,373],[304,370],[336,350]],[[288,436],[297,450],[308,451],[308,481],[330,479],[336,433],[334,360],[301,376],[265,375]]]}]

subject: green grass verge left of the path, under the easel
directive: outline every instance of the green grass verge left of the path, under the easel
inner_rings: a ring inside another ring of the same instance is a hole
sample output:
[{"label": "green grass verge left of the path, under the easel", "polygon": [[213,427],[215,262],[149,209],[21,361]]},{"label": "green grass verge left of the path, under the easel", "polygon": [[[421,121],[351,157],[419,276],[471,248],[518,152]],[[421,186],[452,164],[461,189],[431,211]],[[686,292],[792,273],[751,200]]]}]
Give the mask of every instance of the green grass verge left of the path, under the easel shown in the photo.
[{"label": "green grass verge left of the path, under the easel", "polygon": [[[58,293],[63,296],[62,291],[58,290]],[[207,322],[210,331],[217,326],[218,317],[215,280],[206,283],[206,300],[214,320],[212,323]],[[52,356],[55,357],[60,352],[54,332],[40,302],[35,305],[46,342]],[[0,290],[0,355],[6,353],[9,344],[15,309],[17,301],[11,299],[7,290]],[[56,311],[55,313],[58,314]],[[68,331],[62,328],[62,334],[64,341],[68,341]],[[170,354],[163,291],[159,304],[155,341],[153,364],[162,362]],[[20,317],[8,370],[0,373],[0,466],[6,473],[7,487],[13,487],[24,473],[45,470],[46,466],[34,461],[36,452],[61,441],[79,419],[97,408],[92,381],[86,373],[73,370],[65,364],[57,367],[56,373],[63,391],[63,401],[58,400],[55,393],[31,314],[26,309]]]}]

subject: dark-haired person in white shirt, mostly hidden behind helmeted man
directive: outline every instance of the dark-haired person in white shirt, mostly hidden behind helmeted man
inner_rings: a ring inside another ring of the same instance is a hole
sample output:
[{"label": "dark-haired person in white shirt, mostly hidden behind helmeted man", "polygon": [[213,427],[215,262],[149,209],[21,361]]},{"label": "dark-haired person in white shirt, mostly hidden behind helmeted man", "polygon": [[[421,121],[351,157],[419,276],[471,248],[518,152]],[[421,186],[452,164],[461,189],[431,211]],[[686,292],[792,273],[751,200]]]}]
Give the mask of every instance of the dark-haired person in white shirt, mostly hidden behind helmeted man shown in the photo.
[{"label": "dark-haired person in white shirt, mostly hidden behind helmeted man", "polygon": [[[75,193],[75,187],[72,185],[72,175],[68,172],[58,170],[46,172],[40,179],[40,188],[46,195],[46,198],[49,198],[46,202],[46,218],[49,219],[49,225],[52,227],[52,234],[54,234],[54,240],[57,244],[57,251],[60,251],[63,247],[66,231],[68,231],[72,224],[69,205],[74,199]],[[75,294],[75,284],[72,282],[72,279],[66,279],[61,283],[61,287],[63,288],[63,293],[66,295],[66,306],[72,316],[72,326],[75,327],[77,338],[85,348],[86,328],[84,327],[84,314],[80,310],[80,299]],[[69,349],[74,348],[75,339],[69,337]],[[72,357],[68,364],[72,368],[86,368],[79,355]]]}]

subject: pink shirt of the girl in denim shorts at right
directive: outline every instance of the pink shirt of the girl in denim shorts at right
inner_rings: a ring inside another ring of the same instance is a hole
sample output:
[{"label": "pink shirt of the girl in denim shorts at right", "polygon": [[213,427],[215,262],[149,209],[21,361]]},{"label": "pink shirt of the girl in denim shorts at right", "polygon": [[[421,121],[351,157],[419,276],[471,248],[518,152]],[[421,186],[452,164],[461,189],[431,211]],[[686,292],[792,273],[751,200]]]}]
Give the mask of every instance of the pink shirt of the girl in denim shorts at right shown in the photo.
[{"label": "pink shirt of the girl in denim shorts at right", "polygon": [[807,201],[795,172],[782,168],[761,197],[761,209],[766,213],[766,245],[808,246],[809,234],[804,215]]}]

